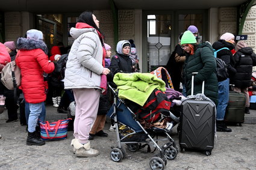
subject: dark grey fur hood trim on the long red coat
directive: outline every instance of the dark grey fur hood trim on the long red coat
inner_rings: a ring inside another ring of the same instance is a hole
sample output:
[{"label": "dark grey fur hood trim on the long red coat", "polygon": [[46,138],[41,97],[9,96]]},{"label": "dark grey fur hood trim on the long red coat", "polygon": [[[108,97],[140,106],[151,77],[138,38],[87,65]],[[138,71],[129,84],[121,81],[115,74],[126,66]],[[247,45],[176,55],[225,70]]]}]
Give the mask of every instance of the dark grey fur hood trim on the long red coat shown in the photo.
[{"label": "dark grey fur hood trim on the long red coat", "polygon": [[17,49],[22,49],[22,50],[42,49],[43,52],[46,53],[46,55],[48,54],[48,48],[47,48],[45,42],[42,40],[18,38]]}]

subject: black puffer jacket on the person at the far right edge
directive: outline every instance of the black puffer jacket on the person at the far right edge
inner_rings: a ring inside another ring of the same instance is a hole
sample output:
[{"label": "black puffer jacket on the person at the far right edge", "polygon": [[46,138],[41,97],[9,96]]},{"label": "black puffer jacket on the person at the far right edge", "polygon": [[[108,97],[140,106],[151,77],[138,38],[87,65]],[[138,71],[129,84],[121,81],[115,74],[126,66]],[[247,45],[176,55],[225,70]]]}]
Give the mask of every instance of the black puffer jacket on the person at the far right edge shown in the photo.
[{"label": "black puffer jacket on the person at the far right edge", "polygon": [[231,82],[236,87],[246,88],[251,86],[252,66],[256,65],[256,55],[251,47],[243,47],[235,53],[235,68],[237,73],[231,77]]}]

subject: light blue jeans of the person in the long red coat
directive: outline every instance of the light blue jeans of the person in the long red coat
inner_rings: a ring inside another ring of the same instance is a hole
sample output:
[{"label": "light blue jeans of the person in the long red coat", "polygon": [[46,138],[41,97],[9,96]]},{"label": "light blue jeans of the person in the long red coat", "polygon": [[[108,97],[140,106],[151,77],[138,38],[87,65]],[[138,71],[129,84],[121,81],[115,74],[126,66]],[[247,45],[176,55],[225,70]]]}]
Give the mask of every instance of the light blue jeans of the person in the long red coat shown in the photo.
[{"label": "light blue jeans of the person in the long red coat", "polygon": [[28,132],[35,132],[37,121],[42,113],[43,102],[41,103],[28,103],[30,106],[30,116],[28,117]]}]

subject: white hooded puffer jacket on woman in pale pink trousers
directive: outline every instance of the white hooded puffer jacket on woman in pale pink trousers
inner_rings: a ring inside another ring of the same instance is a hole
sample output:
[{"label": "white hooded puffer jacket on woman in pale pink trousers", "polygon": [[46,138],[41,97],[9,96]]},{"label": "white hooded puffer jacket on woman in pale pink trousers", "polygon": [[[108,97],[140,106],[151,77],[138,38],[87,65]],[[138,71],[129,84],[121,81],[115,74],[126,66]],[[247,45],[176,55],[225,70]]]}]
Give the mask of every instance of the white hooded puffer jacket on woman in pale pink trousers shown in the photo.
[{"label": "white hooded puffer jacket on woman in pale pink trousers", "polygon": [[102,46],[94,28],[71,28],[75,38],[66,64],[64,86],[72,88],[99,88],[101,83]]}]

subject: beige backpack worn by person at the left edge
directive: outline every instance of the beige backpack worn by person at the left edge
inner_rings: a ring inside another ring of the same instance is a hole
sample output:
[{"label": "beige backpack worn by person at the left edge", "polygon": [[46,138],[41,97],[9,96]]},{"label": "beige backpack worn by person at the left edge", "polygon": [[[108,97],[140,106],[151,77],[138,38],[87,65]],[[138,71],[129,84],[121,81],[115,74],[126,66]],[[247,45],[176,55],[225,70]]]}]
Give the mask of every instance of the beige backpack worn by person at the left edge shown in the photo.
[{"label": "beige backpack worn by person at the left edge", "polygon": [[[20,86],[21,75],[20,68],[17,67],[15,61],[8,62],[2,68],[1,81],[8,90],[14,90]],[[14,90],[16,91],[16,90]]]}]

